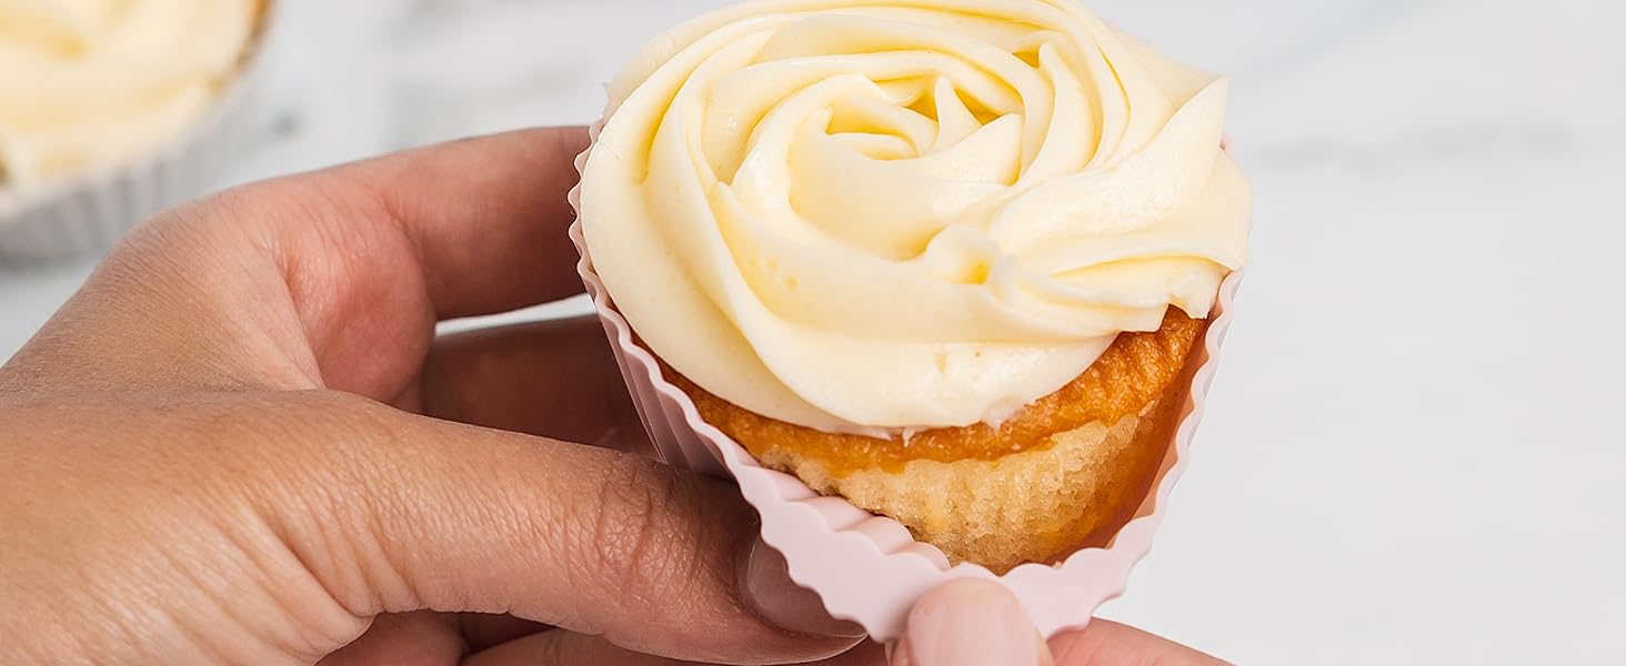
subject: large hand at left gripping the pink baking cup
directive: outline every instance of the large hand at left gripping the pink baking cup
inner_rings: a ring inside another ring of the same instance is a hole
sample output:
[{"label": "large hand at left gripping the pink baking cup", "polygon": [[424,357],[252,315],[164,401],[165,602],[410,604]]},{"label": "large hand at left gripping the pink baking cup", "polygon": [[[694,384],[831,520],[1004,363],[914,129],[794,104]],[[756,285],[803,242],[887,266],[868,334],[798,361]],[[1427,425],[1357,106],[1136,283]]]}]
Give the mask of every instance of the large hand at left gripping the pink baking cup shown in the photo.
[{"label": "large hand at left gripping the pink baking cup", "polygon": [[0,663],[883,663],[728,484],[637,455],[595,322],[436,338],[580,289],[584,145],[459,141],[137,229],[0,367]]}]

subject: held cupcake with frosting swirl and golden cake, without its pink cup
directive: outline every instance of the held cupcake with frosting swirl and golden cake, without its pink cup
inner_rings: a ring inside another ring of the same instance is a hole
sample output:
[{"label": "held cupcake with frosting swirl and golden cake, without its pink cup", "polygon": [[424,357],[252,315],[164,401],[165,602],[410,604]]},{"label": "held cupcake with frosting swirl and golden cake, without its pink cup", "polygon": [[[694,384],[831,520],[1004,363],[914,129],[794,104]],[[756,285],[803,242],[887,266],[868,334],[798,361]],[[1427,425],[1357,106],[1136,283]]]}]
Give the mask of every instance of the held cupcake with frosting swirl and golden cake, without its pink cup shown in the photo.
[{"label": "held cupcake with frosting swirl and golden cake, without its pink cup", "polygon": [[610,86],[585,265],[634,390],[950,562],[1050,565],[1145,505],[1247,262],[1224,106],[1072,0],[743,3]]}]

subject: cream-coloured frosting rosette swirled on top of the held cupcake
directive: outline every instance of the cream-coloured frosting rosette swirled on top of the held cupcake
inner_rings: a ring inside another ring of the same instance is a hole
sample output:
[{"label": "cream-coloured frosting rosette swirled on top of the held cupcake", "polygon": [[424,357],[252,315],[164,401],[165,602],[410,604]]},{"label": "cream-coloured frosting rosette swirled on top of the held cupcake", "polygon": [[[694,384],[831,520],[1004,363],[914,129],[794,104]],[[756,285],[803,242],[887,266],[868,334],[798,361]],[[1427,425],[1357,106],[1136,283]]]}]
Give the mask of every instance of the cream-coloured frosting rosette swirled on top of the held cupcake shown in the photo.
[{"label": "cream-coloured frosting rosette swirled on top of the held cupcake", "polygon": [[1070,0],[769,0],[657,37],[582,172],[676,372],[829,432],[998,421],[1247,262],[1226,80]]}]

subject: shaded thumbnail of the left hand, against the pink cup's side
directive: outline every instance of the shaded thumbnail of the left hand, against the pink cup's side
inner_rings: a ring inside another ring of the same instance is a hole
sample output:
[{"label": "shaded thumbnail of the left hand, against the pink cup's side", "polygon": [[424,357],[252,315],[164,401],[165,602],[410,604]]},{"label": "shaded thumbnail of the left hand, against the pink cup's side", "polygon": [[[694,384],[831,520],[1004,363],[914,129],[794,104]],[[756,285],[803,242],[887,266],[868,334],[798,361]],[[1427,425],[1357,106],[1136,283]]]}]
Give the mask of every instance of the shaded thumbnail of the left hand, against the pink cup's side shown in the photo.
[{"label": "shaded thumbnail of the left hand, against the pink cup's side", "polygon": [[740,598],[763,622],[795,634],[863,635],[863,627],[831,617],[818,593],[790,580],[785,557],[761,538],[751,539],[740,562]]}]

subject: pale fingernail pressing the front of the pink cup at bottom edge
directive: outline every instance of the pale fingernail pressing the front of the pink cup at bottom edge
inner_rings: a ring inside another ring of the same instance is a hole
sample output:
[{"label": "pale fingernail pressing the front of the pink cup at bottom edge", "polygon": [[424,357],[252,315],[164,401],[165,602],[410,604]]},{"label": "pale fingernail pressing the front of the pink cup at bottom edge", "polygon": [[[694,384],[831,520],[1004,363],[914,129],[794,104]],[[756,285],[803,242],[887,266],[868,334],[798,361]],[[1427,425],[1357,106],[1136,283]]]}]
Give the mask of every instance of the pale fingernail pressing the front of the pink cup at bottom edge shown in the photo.
[{"label": "pale fingernail pressing the front of the pink cup at bottom edge", "polygon": [[1003,586],[954,580],[920,598],[893,666],[1049,666],[1050,653],[1028,611]]}]

